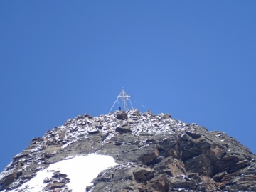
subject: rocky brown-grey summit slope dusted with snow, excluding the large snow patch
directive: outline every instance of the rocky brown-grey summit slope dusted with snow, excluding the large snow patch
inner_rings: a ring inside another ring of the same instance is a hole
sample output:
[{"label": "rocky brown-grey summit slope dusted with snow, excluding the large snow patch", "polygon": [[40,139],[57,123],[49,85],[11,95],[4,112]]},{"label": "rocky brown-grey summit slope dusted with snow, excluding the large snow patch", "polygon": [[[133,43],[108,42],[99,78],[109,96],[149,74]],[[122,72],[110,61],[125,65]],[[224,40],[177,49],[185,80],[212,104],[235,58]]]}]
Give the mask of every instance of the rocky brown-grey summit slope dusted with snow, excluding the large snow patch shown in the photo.
[{"label": "rocky brown-grey summit slope dusted with snow, excluding the large snow patch", "polygon": [[[112,156],[117,165],[100,172],[84,191],[256,191],[250,149],[223,132],[138,110],[80,115],[32,139],[0,174],[0,191],[29,191],[21,185],[38,171],[92,153]],[[43,182],[43,191],[72,191],[65,173]]]}]

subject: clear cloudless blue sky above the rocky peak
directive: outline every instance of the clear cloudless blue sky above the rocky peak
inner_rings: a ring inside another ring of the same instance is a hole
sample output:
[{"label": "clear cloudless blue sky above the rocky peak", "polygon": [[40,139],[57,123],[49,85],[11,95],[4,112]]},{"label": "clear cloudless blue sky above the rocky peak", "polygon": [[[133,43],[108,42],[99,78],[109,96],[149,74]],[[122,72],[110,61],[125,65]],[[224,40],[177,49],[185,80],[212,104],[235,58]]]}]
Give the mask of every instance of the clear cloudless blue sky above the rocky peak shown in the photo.
[{"label": "clear cloudless blue sky above the rocky peak", "polygon": [[256,153],[256,1],[0,1],[0,171],[79,114],[134,107]]}]

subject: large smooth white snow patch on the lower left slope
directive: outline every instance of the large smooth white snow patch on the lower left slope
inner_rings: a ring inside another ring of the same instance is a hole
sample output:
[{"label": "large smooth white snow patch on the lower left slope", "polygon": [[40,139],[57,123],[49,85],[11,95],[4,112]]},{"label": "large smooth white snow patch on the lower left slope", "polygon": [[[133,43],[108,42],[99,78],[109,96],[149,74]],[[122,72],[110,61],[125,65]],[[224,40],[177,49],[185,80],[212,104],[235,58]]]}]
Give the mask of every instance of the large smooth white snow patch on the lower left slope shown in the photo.
[{"label": "large smooth white snow patch on the lower left slope", "polygon": [[[25,189],[28,192],[43,191],[43,188],[47,185],[43,183],[43,180],[46,177],[51,178],[54,171],[60,171],[61,174],[67,174],[70,178],[70,183],[67,185],[73,192],[84,192],[86,186],[92,184],[93,178],[96,178],[100,171],[115,165],[117,164],[111,156],[99,154],[75,156],[71,159],[50,164],[47,169],[38,171],[34,178],[23,183],[18,189]],[[9,192],[14,192],[14,190]]]}]

